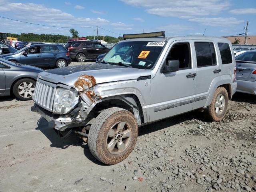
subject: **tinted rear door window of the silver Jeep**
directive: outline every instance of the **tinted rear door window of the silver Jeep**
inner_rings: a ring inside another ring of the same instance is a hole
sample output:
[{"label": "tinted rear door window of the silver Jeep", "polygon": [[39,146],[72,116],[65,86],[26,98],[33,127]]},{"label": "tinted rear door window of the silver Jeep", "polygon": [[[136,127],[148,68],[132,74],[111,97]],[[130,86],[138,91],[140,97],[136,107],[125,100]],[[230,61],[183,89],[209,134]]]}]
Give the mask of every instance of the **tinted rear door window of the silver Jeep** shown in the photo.
[{"label": "tinted rear door window of the silver Jeep", "polygon": [[216,53],[211,42],[195,42],[197,67],[216,65]]}]

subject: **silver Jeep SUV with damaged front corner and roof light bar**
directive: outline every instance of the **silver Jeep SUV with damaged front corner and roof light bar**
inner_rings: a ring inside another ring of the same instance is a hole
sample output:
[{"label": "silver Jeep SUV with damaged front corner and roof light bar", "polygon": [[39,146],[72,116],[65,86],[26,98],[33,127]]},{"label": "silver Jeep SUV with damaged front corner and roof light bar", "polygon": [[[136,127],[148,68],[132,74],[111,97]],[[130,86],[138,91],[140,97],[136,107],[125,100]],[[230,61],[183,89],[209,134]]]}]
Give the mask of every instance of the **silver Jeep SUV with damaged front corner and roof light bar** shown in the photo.
[{"label": "silver Jeep SUV with damaged front corner and roof light bar", "polygon": [[116,164],[134,148],[139,126],[196,109],[222,120],[234,79],[225,38],[129,34],[100,64],[41,72],[31,110],[60,136],[75,132],[99,161]]}]

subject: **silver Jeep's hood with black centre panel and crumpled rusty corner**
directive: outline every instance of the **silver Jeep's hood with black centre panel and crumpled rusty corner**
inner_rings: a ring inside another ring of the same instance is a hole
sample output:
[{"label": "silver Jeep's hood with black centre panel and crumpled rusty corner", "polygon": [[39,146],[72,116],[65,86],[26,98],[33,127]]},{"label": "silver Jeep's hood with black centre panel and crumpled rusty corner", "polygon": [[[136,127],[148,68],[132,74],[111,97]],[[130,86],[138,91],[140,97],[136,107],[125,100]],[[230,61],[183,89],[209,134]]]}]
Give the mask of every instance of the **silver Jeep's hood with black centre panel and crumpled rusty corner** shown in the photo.
[{"label": "silver Jeep's hood with black centre panel and crumpled rusty corner", "polygon": [[150,76],[151,71],[109,64],[88,64],[52,69],[39,74],[39,78],[54,83],[74,85],[80,78],[90,78],[96,84],[122,80],[136,80],[141,76]]}]

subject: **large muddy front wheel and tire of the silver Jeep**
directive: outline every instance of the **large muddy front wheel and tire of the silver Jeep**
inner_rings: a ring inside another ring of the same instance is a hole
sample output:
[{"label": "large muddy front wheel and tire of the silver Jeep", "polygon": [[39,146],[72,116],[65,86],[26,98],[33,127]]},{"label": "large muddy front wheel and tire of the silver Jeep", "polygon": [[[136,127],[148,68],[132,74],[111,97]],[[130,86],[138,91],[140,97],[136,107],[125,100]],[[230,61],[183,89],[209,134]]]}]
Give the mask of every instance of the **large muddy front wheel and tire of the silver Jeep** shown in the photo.
[{"label": "large muddy front wheel and tire of the silver Jeep", "polygon": [[89,130],[88,146],[92,155],[104,164],[124,160],[133,150],[138,137],[134,115],[112,107],[100,113]]}]

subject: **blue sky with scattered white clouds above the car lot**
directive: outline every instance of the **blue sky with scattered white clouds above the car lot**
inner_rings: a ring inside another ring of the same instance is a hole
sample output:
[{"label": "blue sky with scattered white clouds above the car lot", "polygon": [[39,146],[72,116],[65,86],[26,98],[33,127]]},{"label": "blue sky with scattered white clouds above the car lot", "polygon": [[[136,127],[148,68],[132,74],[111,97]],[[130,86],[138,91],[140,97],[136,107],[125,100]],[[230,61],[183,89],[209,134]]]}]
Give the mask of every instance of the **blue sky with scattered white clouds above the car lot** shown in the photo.
[{"label": "blue sky with scattered white clouds above the car lot", "polygon": [[[122,36],[166,32],[166,36],[256,35],[256,0],[0,0],[0,32]],[[60,28],[66,27],[66,28]],[[79,28],[80,27],[80,28]],[[82,28],[81,28],[82,27]]]}]

